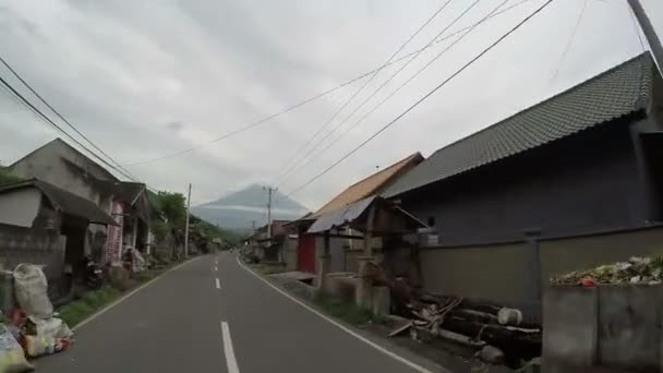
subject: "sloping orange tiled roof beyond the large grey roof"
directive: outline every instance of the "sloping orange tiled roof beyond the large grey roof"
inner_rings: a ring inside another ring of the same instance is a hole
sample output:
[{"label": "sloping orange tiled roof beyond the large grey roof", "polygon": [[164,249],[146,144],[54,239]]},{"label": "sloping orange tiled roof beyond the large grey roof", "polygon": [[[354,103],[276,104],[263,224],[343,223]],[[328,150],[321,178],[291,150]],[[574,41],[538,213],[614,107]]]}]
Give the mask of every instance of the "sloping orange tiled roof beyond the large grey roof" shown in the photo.
[{"label": "sloping orange tiled roof beyond the large grey roof", "polygon": [[390,182],[394,182],[398,176],[415,167],[422,160],[423,156],[420,153],[414,153],[385,168],[384,170],[371,175],[370,177],[348,186],[348,189],[346,189],[342,193],[316,210],[310,218],[318,217],[322,214],[342,208],[353,202],[379,193],[382,190],[387,188]]}]

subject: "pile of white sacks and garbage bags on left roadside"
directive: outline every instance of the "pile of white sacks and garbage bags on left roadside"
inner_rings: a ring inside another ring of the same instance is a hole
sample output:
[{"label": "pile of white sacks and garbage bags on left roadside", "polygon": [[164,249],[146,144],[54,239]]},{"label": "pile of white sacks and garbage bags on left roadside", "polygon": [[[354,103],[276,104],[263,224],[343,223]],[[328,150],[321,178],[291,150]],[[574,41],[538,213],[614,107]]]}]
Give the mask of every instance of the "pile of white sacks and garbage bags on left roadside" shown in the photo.
[{"label": "pile of white sacks and garbage bags on left roadside", "polygon": [[20,264],[13,272],[14,304],[0,323],[0,373],[34,369],[33,359],[60,352],[72,342],[73,333],[53,313],[48,281],[41,267]]}]

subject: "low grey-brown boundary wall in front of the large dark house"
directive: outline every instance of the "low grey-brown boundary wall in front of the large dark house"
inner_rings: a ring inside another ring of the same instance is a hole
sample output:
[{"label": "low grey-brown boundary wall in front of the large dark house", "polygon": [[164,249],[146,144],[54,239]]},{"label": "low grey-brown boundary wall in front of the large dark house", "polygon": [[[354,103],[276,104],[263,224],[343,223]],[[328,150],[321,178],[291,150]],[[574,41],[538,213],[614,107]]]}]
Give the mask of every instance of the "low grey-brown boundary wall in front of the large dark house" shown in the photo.
[{"label": "low grey-brown boundary wall in front of the large dark house", "polygon": [[[534,248],[534,249],[533,249]],[[663,253],[663,227],[606,234],[449,248],[422,248],[423,286],[434,292],[521,306],[538,320],[550,278]]]}]

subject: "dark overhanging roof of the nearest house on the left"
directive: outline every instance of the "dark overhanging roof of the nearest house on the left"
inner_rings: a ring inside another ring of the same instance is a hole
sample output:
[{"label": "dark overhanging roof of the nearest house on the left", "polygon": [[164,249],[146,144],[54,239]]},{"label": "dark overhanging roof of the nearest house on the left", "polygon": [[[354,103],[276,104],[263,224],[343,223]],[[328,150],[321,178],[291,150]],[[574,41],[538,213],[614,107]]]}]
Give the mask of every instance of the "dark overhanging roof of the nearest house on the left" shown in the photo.
[{"label": "dark overhanging roof of the nearest house on the left", "polygon": [[36,188],[58,210],[101,225],[117,225],[110,215],[92,201],[80,197],[48,182],[32,179],[0,188],[0,194],[22,188]]}]

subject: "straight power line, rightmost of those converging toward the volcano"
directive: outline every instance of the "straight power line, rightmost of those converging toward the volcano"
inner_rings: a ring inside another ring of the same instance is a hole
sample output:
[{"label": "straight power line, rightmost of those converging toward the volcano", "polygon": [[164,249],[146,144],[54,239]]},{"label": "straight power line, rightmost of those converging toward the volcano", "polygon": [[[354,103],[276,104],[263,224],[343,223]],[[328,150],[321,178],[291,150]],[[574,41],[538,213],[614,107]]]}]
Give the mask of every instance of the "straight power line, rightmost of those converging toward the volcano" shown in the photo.
[{"label": "straight power line, rightmost of those converging toward the volcano", "polygon": [[442,88],[443,86],[445,86],[447,83],[449,83],[451,80],[454,80],[456,76],[458,76],[461,72],[463,72],[467,68],[469,68],[472,63],[477,62],[479,59],[481,59],[485,53],[487,53],[491,49],[495,48],[499,43],[502,43],[504,39],[506,39],[509,35],[511,35],[514,32],[516,32],[518,28],[520,28],[522,25],[525,25],[528,21],[530,21],[534,15],[537,15],[538,13],[540,13],[541,11],[543,11],[547,5],[550,5],[553,2],[553,0],[547,0],[543,5],[541,5],[539,9],[537,9],[534,12],[532,12],[530,15],[528,15],[527,17],[525,17],[522,21],[520,21],[514,28],[509,29],[506,34],[504,34],[503,36],[501,36],[497,40],[495,40],[493,44],[491,44],[487,48],[485,48],[483,51],[481,51],[479,55],[477,55],[474,58],[472,58],[469,62],[467,62],[462,68],[460,68],[458,71],[456,71],[454,74],[451,74],[449,77],[447,77],[444,82],[442,82],[439,85],[437,85],[435,88],[433,88],[431,92],[426,93],[423,97],[421,97],[420,99],[418,99],[413,105],[411,105],[408,109],[406,109],[403,112],[401,112],[400,115],[398,115],[396,118],[394,118],[390,122],[388,122],[387,124],[385,124],[384,127],[382,127],[377,132],[373,133],[369,139],[366,139],[364,142],[362,142],[361,144],[359,144],[357,147],[354,147],[352,151],[350,151],[349,153],[347,153],[346,155],[343,155],[340,159],[338,159],[337,161],[335,161],[334,164],[332,164],[329,167],[327,167],[326,169],[324,169],[322,172],[317,173],[315,177],[313,177],[312,179],[310,179],[309,181],[306,181],[305,183],[303,183],[302,185],[298,186],[297,189],[294,189],[293,191],[291,191],[290,193],[288,193],[286,196],[291,196],[294,193],[301,191],[302,189],[306,188],[308,185],[310,185],[311,183],[313,183],[315,180],[320,179],[322,176],[324,176],[325,173],[329,172],[329,170],[332,170],[334,167],[340,165],[343,160],[346,160],[347,158],[349,158],[351,155],[353,155],[354,153],[357,153],[357,151],[359,151],[360,148],[362,148],[364,145],[366,145],[367,143],[370,143],[373,139],[377,137],[381,133],[383,133],[384,131],[386,131],[389,127],[394,125],[394,123],[396,123],[398,120],[400,120],[402,117],[405,117],[406,115],[408,115],[410,111],[412,111],[412,109],[414,109],[417,106],[419,106],[421,103],[423,103],[425,99],[427,99],[429,97],[431,97],[435,92],[437,92],[439,88]]}]

